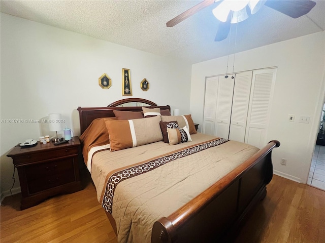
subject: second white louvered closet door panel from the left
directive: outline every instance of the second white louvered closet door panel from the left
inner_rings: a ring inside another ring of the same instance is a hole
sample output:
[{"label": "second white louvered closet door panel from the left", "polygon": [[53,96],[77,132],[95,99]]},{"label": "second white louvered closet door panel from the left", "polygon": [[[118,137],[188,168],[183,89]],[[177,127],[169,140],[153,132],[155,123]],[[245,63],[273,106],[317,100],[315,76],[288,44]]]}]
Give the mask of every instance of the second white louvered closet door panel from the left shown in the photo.
[{"label": "second white louvered closet door panel from the left", "polygon": [[219,76],[215,136],[229,138],[235,79]]}]

